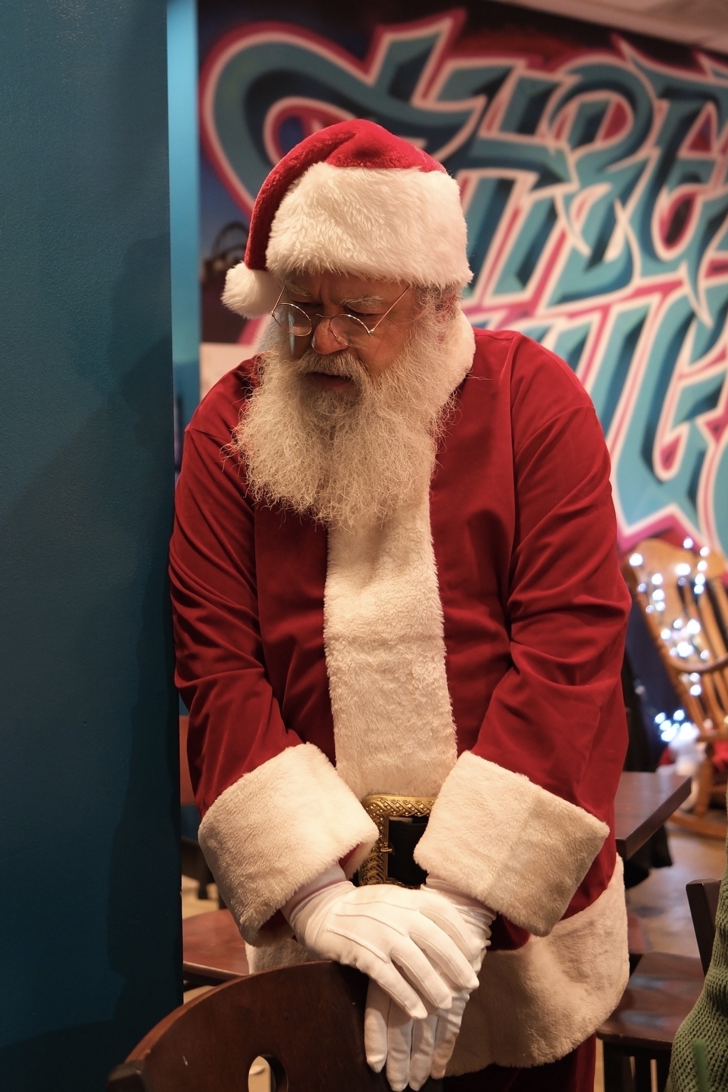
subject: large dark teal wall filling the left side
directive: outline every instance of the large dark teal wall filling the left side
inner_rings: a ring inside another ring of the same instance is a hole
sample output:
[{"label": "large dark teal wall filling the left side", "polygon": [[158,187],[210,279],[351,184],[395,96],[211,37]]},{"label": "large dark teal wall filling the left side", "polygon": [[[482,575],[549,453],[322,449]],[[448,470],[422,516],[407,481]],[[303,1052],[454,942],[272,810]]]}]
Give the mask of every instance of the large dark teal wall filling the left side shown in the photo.
[{"label": "large dark teal wall filling the left side", "polygon": [[165,0],[0,0],[0,1087],[181,999]]}]

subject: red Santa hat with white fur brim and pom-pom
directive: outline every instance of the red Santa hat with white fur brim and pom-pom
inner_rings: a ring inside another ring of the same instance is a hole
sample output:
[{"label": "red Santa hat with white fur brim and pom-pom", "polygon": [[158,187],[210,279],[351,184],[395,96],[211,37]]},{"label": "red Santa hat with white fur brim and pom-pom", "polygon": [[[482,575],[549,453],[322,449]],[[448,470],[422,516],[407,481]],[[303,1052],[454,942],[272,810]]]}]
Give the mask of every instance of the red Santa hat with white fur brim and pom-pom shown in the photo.
[{"label": "red Santa hat with white fur brim and pom-pom", "polygon": [[265,314],[279,278],[303,269],[463,287],[473,274],[457,182],[372,121],[307,136],[263,182],[223,301],[248,318]]}]

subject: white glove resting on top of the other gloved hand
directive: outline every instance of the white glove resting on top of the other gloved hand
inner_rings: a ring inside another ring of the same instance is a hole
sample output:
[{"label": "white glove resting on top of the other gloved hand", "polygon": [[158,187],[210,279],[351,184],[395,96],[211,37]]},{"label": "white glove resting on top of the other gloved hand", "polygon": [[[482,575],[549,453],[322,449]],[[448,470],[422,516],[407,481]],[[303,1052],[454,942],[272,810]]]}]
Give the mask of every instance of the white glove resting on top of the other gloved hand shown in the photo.
[{"label": "white glove resting on top of the other gloved hand", "polygon": [[355,888],[334,866],[282,909],[301,943],[362,971],[411,1018],[427,1017],[422,1001],[446,1010],[478,984],[462,916],[434,892]]}]

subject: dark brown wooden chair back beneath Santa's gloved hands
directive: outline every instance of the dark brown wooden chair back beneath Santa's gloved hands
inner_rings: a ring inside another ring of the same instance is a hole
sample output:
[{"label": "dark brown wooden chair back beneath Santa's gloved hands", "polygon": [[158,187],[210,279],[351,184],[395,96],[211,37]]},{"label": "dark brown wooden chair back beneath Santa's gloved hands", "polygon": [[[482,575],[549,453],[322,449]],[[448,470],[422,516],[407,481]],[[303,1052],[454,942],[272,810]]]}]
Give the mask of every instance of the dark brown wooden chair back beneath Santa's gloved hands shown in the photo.
[{"label": "dark brown wooden chair back beneath Santa's gloved hands", "polygon": [[[176,1009],[109,1076],[108,1092],[247,1092],[264,1057],[275,1092],[389,1092],[367,1066],[367,980],[303,963],[227,982]],[[428,1092],[442,1088],[429,1081]]]}]

